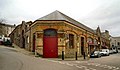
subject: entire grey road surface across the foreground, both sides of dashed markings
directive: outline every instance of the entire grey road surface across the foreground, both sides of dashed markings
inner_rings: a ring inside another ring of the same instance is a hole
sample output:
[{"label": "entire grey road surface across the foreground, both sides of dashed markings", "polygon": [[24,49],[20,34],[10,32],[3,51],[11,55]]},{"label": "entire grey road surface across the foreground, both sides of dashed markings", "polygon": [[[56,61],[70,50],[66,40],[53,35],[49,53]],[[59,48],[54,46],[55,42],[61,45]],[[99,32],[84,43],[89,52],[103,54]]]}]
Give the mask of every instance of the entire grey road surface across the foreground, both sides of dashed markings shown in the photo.
[{"label": "entire grey road surface across the foreground, both sides of dashed markings", "polygon": [[60,61],[28,56],[0,46],[0,70],[120,70],[120,53],[87,61]]}]

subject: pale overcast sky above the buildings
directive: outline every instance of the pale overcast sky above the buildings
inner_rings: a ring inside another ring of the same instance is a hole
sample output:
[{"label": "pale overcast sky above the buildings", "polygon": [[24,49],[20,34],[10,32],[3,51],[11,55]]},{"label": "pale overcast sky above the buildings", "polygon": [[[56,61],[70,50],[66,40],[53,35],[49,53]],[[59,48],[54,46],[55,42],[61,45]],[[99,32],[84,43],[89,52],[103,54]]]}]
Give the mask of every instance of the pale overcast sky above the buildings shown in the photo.
[{"label": "pale overcast sky above the buildings", "polygon": [[58,10],[82,24],[120,36],[120,0],[0,0],[0,19],[7,24],[35,21]]}]

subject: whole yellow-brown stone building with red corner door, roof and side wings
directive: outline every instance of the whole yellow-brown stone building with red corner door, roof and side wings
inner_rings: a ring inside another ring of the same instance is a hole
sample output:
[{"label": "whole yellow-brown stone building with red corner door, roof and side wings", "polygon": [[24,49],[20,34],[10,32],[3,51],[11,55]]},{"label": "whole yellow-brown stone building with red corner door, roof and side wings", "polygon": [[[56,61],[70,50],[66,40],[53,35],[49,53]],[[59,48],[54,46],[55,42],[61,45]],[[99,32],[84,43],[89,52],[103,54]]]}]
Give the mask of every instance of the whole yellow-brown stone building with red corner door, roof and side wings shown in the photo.
[{"label": "whole yellow-brown stone building with red corner door, roof and side wings", "polygon": [[[54,11],[34,22],[22,22],[10,34],[14,44],[45,58],[82,57],[109,48],[109,31],[93,30],[67,15]],[[19,43],[20,42],[20,43]]]}]

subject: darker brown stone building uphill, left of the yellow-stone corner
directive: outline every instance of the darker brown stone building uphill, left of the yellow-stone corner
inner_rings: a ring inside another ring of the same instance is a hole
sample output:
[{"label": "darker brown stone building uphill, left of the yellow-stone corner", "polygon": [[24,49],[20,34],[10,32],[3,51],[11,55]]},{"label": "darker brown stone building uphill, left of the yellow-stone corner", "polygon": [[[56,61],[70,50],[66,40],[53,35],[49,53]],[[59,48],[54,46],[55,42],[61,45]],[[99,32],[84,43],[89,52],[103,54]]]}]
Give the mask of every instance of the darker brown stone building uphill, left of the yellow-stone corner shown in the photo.
[{"label": "darker brown stone building uphill, left of the yellow-stone corner", "polygon": [[22,21],[20,25],[16,26],[16,28],[10,34],[12,43],[16,44],[21,48],[25,48],[25,36],[26,36],[25,33],[29,30],[28,26],[30,23],[31,21],[30,22]]}]

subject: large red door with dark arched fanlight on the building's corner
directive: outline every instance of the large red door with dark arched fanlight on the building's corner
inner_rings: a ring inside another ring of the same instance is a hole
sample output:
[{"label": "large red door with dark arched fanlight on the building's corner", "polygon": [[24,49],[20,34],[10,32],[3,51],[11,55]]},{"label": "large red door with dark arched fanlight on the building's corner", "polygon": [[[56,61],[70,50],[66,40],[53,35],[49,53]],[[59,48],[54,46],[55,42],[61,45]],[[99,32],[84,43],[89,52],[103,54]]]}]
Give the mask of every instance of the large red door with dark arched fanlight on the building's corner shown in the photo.
[{"label": "large red door with dark arched fanlight on the building's corner", "polygon": [[44,30],[43,57],[44,58],[58,57],[58,37],[57,31],[55,29]]}]

